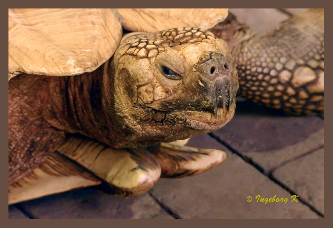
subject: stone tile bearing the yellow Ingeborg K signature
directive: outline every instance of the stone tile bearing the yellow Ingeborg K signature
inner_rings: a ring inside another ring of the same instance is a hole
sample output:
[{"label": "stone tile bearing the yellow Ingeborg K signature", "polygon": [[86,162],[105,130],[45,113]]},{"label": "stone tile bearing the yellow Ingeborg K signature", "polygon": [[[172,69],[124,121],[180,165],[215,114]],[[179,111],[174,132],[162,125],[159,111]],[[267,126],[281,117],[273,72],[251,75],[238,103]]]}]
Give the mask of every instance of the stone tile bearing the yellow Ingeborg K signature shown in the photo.
[{"label": "stone tile bearing the yellow Ingeborg K signature", "polygon": [[[173,213],[184,219],[320,218],[307,206],[291,202],[290,193],[275,184],[209,135],[195,136],[189,146],[217,148],[227,159],[196,176],[160,179],[150,190]],[[256,202],[255,197],[283,197],[288,202]],[[248,202],[248,196],[252,201]]]}]

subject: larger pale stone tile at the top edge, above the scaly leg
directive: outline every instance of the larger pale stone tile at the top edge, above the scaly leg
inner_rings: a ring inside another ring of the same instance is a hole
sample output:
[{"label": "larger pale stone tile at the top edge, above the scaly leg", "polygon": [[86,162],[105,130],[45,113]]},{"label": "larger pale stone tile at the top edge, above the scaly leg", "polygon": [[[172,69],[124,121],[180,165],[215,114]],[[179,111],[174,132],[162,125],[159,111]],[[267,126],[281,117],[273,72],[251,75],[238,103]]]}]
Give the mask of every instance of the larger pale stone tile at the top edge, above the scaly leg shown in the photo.
[{"label": "larger pale stone tile at the top edge, above the scaly leg", "polygon": [[229,9],[237,20],[246,23],[250,29],[265,33],[274,29],[279,22],[289,17],[276,9]]}]

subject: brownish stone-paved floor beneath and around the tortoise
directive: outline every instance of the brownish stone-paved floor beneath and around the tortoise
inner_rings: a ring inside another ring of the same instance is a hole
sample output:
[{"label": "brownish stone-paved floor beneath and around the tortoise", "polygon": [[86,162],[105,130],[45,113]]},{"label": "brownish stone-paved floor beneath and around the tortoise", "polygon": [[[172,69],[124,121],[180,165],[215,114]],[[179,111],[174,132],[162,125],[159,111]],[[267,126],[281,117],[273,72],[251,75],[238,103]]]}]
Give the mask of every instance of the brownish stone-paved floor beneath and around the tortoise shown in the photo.
[{"label": "brownish stone-paved floor beneath and around the tortoise", "polygon": [[[236,15],[254,15],[257,20],[270,15],[268,25],[264,26],[269,29],[289,13],[304,10],[284,9],[282,13],[267,9],[262,14],[259,9],[231,11]],[[248,23],[254,29],[260,27],[256,20]],[[257,31],[263,32],[262,29]],[[324,217],[324,117],[286,116],[237,101],[236,113],[226,126],[192,137],[187,145],[223,150],[227,159],[196,176],[160,179],[140,196],[118,198],[95,186],[11,205],[9,218]],[[260,199],[276,195],[275,198],[288,201],[257,202],[258,195]],[[292,201],[292,195],[299,195],[298,202]],[[248,197],[252,201],[248,202]]]}]

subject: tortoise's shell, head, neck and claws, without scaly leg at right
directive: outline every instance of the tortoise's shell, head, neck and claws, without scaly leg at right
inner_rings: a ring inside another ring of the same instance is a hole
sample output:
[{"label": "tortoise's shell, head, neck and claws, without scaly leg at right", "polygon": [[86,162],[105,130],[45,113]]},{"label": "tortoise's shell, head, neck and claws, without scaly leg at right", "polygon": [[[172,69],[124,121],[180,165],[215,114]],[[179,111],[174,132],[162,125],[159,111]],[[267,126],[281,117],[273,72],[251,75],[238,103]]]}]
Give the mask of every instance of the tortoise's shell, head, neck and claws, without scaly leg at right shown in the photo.
[{"label": "tortoise's shell, head, neck and claws, without scaly leg at right", "polygon": [[[226,15],[10,9],[9,203],[101,180],[113,194],[137,195],[160,176],[221,163],[223,151],[157,143],[211,132],[232,118],[236,69],[227,44],[202,29]],[[122,37],[122,26],[133,32]]]}]

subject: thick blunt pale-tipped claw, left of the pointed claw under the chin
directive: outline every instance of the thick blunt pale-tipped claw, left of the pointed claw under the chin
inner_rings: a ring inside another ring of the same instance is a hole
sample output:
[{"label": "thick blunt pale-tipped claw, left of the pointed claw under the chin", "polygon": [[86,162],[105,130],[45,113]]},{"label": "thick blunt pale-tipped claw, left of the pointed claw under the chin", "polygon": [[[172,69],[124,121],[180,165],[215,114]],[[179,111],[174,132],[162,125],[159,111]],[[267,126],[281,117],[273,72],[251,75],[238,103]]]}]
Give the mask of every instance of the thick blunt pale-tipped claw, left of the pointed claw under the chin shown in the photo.
[{"label": "thick blunt pale-tipped claw, left of the pointed claw under the chin", "polygon": [[115,149],[90,139],[72,137],[58,151],[106,181],[118,196],[144,193],[161,175],[160,164],[147,149]]}]

